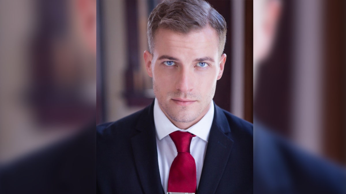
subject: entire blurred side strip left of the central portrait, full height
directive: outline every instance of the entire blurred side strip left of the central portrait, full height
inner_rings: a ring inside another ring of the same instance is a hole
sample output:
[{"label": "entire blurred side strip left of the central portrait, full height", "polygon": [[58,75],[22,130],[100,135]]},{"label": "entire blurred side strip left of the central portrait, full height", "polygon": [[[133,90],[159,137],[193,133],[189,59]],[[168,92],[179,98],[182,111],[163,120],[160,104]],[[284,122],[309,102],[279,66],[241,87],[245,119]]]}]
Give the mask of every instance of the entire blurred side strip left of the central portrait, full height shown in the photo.
[{"label": "entire blurred side strip left of the central portrait, full height", "polygon": [[96,1],[0,1],[0,193],[96,193]]}]

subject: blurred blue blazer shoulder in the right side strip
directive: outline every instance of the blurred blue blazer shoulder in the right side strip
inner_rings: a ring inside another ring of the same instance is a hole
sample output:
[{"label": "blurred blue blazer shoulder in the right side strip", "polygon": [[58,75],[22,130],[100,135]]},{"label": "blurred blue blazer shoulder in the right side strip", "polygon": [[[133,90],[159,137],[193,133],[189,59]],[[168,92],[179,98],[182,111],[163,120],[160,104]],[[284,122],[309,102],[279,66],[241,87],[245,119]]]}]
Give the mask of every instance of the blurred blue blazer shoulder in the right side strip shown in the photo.
[{"label": "blurred blue blazer shoulder in the right side strip", "polygon": [[255,119],[254,193],[346,193],[346,171],[270,132]]}]

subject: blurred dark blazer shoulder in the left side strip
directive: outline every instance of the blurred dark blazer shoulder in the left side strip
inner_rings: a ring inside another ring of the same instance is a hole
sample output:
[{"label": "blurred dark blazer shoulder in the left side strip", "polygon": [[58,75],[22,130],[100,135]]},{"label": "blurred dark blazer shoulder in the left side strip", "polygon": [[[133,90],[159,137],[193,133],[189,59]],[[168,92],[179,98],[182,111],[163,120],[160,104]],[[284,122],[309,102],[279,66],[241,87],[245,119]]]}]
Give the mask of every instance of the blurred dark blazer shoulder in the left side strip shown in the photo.
[{"label": "blurred dark blazer shoulder in the left side strip", "polygon": [[96,193],[95,127],[0,166],[0,193]]}]

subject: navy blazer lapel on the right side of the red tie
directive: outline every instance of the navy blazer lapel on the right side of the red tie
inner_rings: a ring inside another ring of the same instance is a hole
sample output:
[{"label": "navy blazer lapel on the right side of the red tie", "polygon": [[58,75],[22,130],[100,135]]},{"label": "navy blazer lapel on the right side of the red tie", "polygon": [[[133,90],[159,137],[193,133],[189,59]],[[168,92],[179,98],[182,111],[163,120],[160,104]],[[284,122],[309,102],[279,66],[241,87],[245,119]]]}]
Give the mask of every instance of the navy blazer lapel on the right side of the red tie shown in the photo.
[{"label": "navy blazer lapel on the right side of the red tie", "polygon": [[215,193],[232,150],[233,140],[226,136],[230,127],[221,108],[216,106],[204,158],[198,194]]}]

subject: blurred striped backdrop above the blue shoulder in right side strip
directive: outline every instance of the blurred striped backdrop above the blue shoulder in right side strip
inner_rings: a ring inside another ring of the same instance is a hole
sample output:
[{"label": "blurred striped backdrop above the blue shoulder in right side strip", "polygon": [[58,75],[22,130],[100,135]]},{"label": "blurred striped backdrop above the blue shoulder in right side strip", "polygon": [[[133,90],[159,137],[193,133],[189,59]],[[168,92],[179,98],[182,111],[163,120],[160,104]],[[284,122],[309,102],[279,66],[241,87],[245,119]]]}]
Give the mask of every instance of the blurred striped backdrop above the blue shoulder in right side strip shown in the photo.
[{"label": "blurred striped backdrop above the blue shoulder in right side strip", "polygon": [[342,0],[254,1],[254,37],[263,40],[261,33],[275,31],[268,35],[271,43],[254,43],[255,53],[267,50],[254,60],[255,120],[341,165],[346,165],[345,9]]}]

